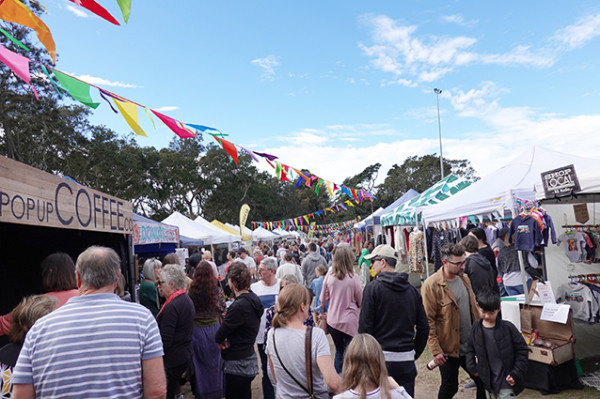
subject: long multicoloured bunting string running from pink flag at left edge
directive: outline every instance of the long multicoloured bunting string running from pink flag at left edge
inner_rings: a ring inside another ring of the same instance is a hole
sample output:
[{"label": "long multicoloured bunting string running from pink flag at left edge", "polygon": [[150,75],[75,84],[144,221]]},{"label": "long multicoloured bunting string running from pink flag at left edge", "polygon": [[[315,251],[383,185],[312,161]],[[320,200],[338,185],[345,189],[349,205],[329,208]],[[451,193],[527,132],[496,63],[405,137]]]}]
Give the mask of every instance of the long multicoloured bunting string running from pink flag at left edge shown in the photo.
[{"label": "long multicoloured bunting string running from pink flag at left edge", "polygon": [[[374,199],[373,194],[366,190],[336,184],[334,182],[316,176],[310,172],[284,164],[283,162],[280,162],[278,160],[278,157],[275,155],[249,150],[238,144],[226,140],[224,138],[225,135],[219,129],[194,123],[182,123],[156,110],[149,109],[144,105],[138,104],[134,101],[128,100],[108,90],[102,89],[96,85],[85,82],[56,68],[52,68],[48,65],[44,65],[38,61],[12,52],[9,49],[3,47],[1,44],[0,61],[6,64],[6,66],[8,66],[18,77],[20,77],[23,81],[25,81],[25,83],[29,85],[29,87],[31,87],[36,98],[38,98],[38,94],[35,91],[35,88],[31,85],[29,61],[39,64],[42,67],[42,70],[44,71],[46,77],[50,80],[50,82],[52,82],[54,88],[61,96],[63,95],[61,90],[63,90],[69,93],[69,95],[75,100],[79,101],[84,105],[87,105],[88,107],[96,109],[100,105],[100,103],[94,102],[90,95],[90,89],[92,87],[98,89],[100,97],[108,103],[113,112],[120,112],[127,124],[129,125],[129,127],[131,127],[133,132],[139,136],[148,137],[146,132],[141,128],[139,124],[138,107],[144,110],[148,118],[150,118],[150,120],[152,121],[152,124],[155,128],[156,125],[154,124],[154,120],[152,119],[152,114],[154,114],[154,116],[160,119],[171,131],[173,131],[180,138],[186,139],[196,137],[197,133],[207,133],[211,135],[219,143],[219,145],[227,152],[227,154],[229,154],[231,160],[236,164],[238,162],[238,149],[250,155],[254,162],[259,162],[258,157],[263,158],[271,167],[273,167],[273,169],[275,170],[275,174],[279,180],[295,181],[297,188],[301,187],[301,185],[303,184],[310,188],[314,187],[315,193],[317,195],[319,195],[321,189],[327,190],[328,194],[331,197],[334,197],[337,192],[341,192],[349,196],[357,204],[362,203],[365,199],[368,199],[369,201],[373,201]],[[56,82],[52,78],[52,76],[48,72],[48,69],[52,70],[58,82]],[[113,107],[113,104],[115,105],[116,109],[115,107]],[[349,201],[346,201],[345,203],[348,202]],[[341,204],[335,206],[343,207],[343,205]]]}]

